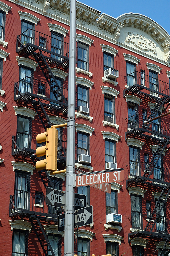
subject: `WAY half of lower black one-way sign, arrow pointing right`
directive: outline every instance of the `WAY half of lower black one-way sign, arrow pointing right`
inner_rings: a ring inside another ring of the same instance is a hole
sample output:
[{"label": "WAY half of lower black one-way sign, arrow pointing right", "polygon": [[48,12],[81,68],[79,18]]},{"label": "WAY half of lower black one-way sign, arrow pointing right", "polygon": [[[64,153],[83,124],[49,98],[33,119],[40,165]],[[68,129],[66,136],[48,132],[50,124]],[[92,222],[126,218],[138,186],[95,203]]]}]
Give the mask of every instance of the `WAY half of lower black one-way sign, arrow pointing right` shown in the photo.
[{"label": "WAY half of lower black one-way sign, arrow pointing right", "polygon": [[92,205],[75,211],[75,228],[89,225],[93,222]]}]

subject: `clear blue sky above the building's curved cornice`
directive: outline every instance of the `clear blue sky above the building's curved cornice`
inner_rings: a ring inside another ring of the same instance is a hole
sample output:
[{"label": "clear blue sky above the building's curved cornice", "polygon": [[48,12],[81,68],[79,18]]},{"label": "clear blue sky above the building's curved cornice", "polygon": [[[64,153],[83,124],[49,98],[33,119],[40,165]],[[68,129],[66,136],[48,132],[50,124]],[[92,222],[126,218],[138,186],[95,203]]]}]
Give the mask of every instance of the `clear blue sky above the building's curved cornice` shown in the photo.
[{"label": "clear blue sky above the building's curved cornice", "polygon": [[117,18],[123,13],[140,13],[156,21],[170,34],[170,0],[79,0]]}]

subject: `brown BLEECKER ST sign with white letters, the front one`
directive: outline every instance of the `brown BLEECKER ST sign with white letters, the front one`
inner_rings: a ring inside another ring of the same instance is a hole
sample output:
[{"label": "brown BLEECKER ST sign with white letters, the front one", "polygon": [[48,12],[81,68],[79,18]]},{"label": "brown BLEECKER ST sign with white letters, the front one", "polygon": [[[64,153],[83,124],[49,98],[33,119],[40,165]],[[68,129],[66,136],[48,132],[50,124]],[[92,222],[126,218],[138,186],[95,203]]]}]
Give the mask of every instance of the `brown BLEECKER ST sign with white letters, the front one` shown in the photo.
[{"label": "brown BLEECKER ST sign with white letters, the front one", "polygon": [[103,170],[99,172],[79,173],[76,175],[76,187],[91,186],[102,183],[124,181],[124,168]]}]

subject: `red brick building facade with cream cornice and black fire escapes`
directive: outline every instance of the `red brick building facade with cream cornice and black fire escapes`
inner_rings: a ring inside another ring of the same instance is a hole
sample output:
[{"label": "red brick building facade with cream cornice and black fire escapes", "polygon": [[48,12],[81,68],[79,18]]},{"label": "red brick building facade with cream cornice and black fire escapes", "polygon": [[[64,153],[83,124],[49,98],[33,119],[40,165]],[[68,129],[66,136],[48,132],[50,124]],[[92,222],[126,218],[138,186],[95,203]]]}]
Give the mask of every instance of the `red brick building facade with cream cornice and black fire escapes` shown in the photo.
[{"label": "red brick building facade with cream cornice and black fire escapes", "polygon": [[[112,183],[111,193],[107,185],[75,188],[93,206],[93,223],[75,229],[75,254],[166,255],[170,119],[144,121],[170,108],[170,36],[141,14],[115,19],[77,2],[76,15],[75,172],[123,167],[124,181]],[[0,1],[5,256],[64,254],[63,210],[47,206],[45,195],[46,186],[65,190],[65,175],[37,171],[35,151],[37,134],[67,120],[69,19],[69,1]],[[67,128],[58,129],[59,170],[66,141]]]}]

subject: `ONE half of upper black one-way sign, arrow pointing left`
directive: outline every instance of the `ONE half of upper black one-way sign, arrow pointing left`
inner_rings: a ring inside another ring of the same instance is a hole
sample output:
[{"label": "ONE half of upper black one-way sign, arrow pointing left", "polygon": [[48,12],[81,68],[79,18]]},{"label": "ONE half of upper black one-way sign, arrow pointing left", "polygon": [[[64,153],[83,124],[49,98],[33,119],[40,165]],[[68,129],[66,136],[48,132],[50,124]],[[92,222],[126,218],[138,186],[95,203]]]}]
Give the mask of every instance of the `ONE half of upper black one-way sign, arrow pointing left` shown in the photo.
[{"label": "ONE half of upper black one-way sign, arrow pointing left", "polygon": [[64,207],[66,202],[65,193],[65,191],[46,187],[46,204],[54,207]]}]

